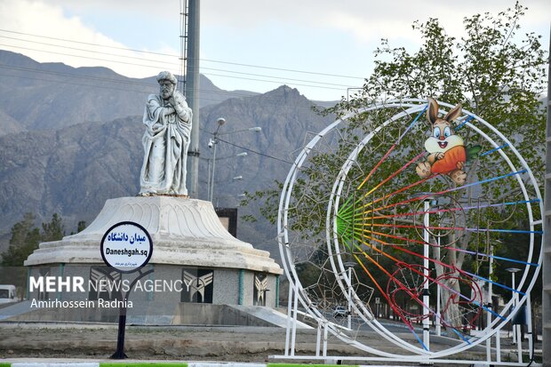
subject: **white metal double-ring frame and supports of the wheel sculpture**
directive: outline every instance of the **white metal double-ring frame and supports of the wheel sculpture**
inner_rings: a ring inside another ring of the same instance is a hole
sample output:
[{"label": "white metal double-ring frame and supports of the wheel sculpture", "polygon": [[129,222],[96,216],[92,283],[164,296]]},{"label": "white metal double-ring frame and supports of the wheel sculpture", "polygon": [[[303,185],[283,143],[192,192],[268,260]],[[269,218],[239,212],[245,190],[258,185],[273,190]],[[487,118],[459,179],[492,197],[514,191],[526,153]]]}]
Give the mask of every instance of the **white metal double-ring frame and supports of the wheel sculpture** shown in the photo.
[{"label": "white metal double-ring frame and supports of the wheel sculpture", "polygon": [[[518,363],[523,363],[522,348],[520,347],[520,343],[518,347],[518,362],[505,363],[500,360],[499,331],[512,319],[518,307],[520,307],[523,304],[526,304],[527,309],[530,309],[530,290],[533,287],[534,283],[536,282],[537,274],[539,272],[539,268],[541,265],[542,246],[540,247],[539,257],[537,260],[539,267],[537,267],[536,269],[536,272],[535,272],[536,274],[533,275],[531,279],[527,279],[529,275],[528,270],[530,265],[526,265],[524,267],[524,272],[521,280],[518,282],[518,284],[516,284],[517,285],[516,289],[522,289],[524,286],[524,283],[529,281],[529,283],[526,286],[526,289],[528,291],[526,291],[522,299],[519,299],[518,302],[516,302],[515,304],[514,304],[515,300],[511,299],[505,306],[503,314],[504,315],[507,314],[507,311],[509,310],[509,308],[512,308],[515,305],[515,309],[513,310],[514,312],[511,312],[505,318],[505,320],[502,320],[501,322],[498,318],[495,318],[493,321],[491,321],[491,317],[489,317],[490,323],[488,323],[488,326],[486,327],[486,329],[484,329],[482,336],[465,340],[464,342],[460,343],[456,347],[451,347],[441,351],[430,351],[421,347],[411,345],[410,342],[399,338],[397,335],[395,335],[390,331],[387,331],[385,326],[380,324],[377,321],[377,319],[374,317],[374,315],[371,314],[371,310],[365,307],[363,305],[363,302],[361,302],[360,299],[358,299],[358,297],[355,295],[355,292],[354,291],[348,292],[348,290],[352,288],[351,287],[352,280],[350,276],[347,275],[347,271],[344,266],[343,260],[339,256],[339,239],[336,232],[336,213],[339,209],[340,194],[343,189],[345,180],[347,179],[347,172],[355,163],[355,158],[358,156],[358,154],[360,154],[363,148],[369,144],[370,140],[382,128],[384,128],[385,126],[387,126],[387,124],[390,124],[396,119],[399,119],[403,116],[419,113],[425,108],[426,104],[427,104],[426,100],[419,100],[419,99],[391,100],[385,103],[379,103],[379,104],[373,105],[370,108],[363,108],[355,113],[348,114],[347,116],[344,116],[343,118],[327,126],[325,129],[323,129],[322,132],[319,132],[318,134],[316,134],[314,139],[310,140],[307,143],[306,147],[300,151],[299,156],[297,156],[295,162],[292,164],[291,170],[287,175],[287,178],[283,184],[283,190],[280,198],[278,220],[277,220],[278,242],[279,242],[279,248],[280,248],[281,258],[283,262],[283,269],[289,280],[287,332],[286,332],[286,338],[285,338],[284,355],[273,355],[271,357],[277,358],[277,359],[298,359],[298,360],[327,359],[328,357],[327,356],[327,338],[328,338],[328,334],[331,333],[331,335],[346,342],[347,344],[357,347],[359,350],[365,353],[375,355],[373,357],[363,357],[363,358],[346,357],[342,355],[332,357],[333,359],[339,359],[339,360],[385,361],[387,363],[390,363],[390,362],[393,362],[393,363],[396,363],[396,362],[467,363],[466,361],[460,358],[460,353],[463,351],[466,351],[469,348],[478,346],[479,344],[486,341],[485,343],[486,349],[487,349],[486,360],[479,361],[477,363],[503,364],[503,365],[515,365]],[[439,104],[442,107],[453,108],[453,106],[451,106],[448,103],[439,102]],[[308,299],[306,291],[304,291],[302,285],[300,284],[299,277],[294,267],[291,248],[289,246],[289,233],[288,233],[289,204],[291,202],[292,190],[295,184],[295,180],[297,179],[297,174],[299,173],[299,170],[302,167],[302,165],[307,161],[308,155],[310,154],[312,149],[315,148],[315,145],[318,144],[318,142],[322,140],[324,136],[326,136],[329,132],[331,132],[331,130],[339,127],[340,124],[346,124],[347,120],[350,117],[353,117],[357,114],[361,114],[366,111],[376,110],[380,108],[396,108],[398,111],[401,111],[401,112],[398,112],[391,119],[387,120],[384,124],[381,124],[377,129],[375,129],[374,131],[366,135],[363,138],[363,140],[361,140],[360,143],[357,144],[356,148],[353,150],[350,156],[347,157],[345,164],[343,164],[339,172],[339,175],[335,180],[335,183],[331,192],[331,197],[328,203],[327,218],[326,218],[326,238],[328,243],[327,248],[329,251],[329,258],[331,260],[332,270],[334,274],[340,275],[340,276],[336,276],[336,279],[337,279],[337,282],[339,283],[341,290],[343,290],[343,294],[347,297],[348,304],[352,305],[352,307],[355,310],[355,313],[357,315],[360,315],[363,319],[363,322],[368,324],[373,331],[378,332],[380,337],[387,339],[391,343],[394,343],[396,347],[401,348],[405,353],[409,353],[409,355],[388,353],[388,352],[378,350],[374,347],[370,347],[368,345],[362,344],[356,341],[354,339],[354,336],[348,335],[348,332],[350,331],[349,329],[339,326],[338,324],[331,323],[319,310],[313,308],[311,300]],[[467,116],[472,116],[476,124],[483,125],[485,128],[491,130],[493,134],[497,135],[500,140],[508,144],[507,148],[509,149],[509,151],[516,157],[516,159],[520,162],[520,164],[522,164],[523,170],[526,170],[526,174],[530,179],[529,184],[531,185],[531,187],[533,187],[535,195],[537,196],[537,199],[539,199],[539,205],[537,206],[536,211],[539,210],[540,219],[534,219],[532,207],[530,203],[530,200],[532,198],[529,197],[527,189],[520,175],[515,175],[517,183],[523,192],[524,199],[528,202],[526,203],[526,206],[527,206],[527,212],[530,220],[530,229],[531,231],[534,231],[535,227],[542,227],[543,223],[541,218],[543,218],[543,201],[539,193],[538,184],[530,168],[524,161],[523,157],[520,156],[518,151],[511,144],[511,142],[507,140],[507,138],[503,136],[497,129],[491,126],[491,124],[488,124],[482,118],[480,118],[479,116],[475,116],[475,114],[467,110],[463,111],[463,115],[464,115],[464,118],[467,118]],[[483,139],[488,141],[492,147],[499,148],[498,143],[492,140],[491,137],[489,137],[486,133],[484,133],[475,124],[467,122],[466,127],[472,129],[474,132],[482,136]],[[518,172],[518,170],[515,167],[515,164],[511,162],[511,159],[504,152],[504,149],[498,149],[497,152],[503,158],[503,160],[508,164],[511,172]],[[531,248],[530,248],[527,262],[535,262],[531,260],[532,257],[534,257],[534,253],[533,253],[534,234],[533,233],[531,233],[530,235],[530,240],[531,240]],[[332,256],[332,255],[337,255],[337,256]],[[335,261],[334,258],[336,258],[337,260]],[[301,305],[307,310],[306,311],[307,315],[309,317],[312,317],[318,325],[316,353],[315,355],[312,355],[312,356],[298,356],[294,354],[295,347],[296,347],[296,325],[297,325],[297,318],[299,315],[299,309],[298,309],[299,305]],[[531,336],[531,328],[532,328],[531,317],[527,317],[527,319],[528,319],[527,334]],[[490,343],[491,337],[496,337],[496,347],[498,350],[496,350],[495,359],[491,358],[491,343]],[[533,341],[530,339],[530,342],[529,342],[530,353],[531,353],[532,343]],[[427,344],[428,344],[428,339],[427,339]],[[449,358],[452,355],[459,356],[459,358],[457,359]]]}]

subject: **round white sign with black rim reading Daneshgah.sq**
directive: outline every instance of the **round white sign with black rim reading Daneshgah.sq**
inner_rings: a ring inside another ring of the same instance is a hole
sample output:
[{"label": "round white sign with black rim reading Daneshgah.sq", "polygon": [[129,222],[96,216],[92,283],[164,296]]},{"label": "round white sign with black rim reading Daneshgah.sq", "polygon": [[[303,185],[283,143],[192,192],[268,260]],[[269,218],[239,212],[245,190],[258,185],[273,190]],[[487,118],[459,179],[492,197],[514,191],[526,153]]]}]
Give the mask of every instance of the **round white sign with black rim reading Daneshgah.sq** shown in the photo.
[{"label": "round white sign with black rim reading Daneshgah.sq", "polygon": [[148,264],[153,241],[146,228],[125,221],[110,227],[101,238],[101,258],[121,273],[132,273]]}]

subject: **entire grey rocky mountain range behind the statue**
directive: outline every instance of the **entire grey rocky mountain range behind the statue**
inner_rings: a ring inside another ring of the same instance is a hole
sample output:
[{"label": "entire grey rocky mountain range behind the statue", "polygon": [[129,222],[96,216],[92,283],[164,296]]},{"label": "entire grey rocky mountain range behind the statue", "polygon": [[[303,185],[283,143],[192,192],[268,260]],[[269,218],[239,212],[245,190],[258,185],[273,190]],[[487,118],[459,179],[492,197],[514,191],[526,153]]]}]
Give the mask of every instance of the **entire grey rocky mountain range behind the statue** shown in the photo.
[{"label": "entire grey rocky mountain range behind the statue", "polygon": [[[91,223],[107,199],[138,193],[141,114],[147,95],[157,92],[154,76],[132,79],[5,51],[0,68],[0,251],[25,212],[35,213],[38,223],[57,212],[70,232],[79,220]],[[216,120],[227,121],[217,146],[215,206],[235,207],[244,191],[284,180],[307,132],[333,120],[317,115],[314,103],[288,86],[258,94],[223,91],[204,76],[200,83],[200,199],[207,198],[212,164],[208,141]],[[254,126],[262,131],[246,131]],[[241,152],[247,156],[236,157]],[[243,179],[233,180],[238,176]],[[240,221],[238,237],[275,255],[275,227],[266,221]]]}]

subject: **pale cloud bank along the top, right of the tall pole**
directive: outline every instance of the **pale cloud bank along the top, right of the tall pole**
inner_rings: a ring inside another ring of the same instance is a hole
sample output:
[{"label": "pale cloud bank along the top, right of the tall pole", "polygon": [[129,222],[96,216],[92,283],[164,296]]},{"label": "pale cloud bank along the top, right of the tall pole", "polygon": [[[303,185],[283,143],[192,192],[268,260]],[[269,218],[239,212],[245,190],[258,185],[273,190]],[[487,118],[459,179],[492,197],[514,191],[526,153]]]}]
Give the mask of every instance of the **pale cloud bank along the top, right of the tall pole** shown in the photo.
[{"label": "pale cloud bank along the top, right of the tall pole", "polygon": [[[283,22],[305,28],[331,27],[353,34],[359,42],[371,42],[380,38],[417,37],[411,35],[412,22],[429,18],[438,18],[451,36],[461,36],[464,17],[483,12],[497,14],[514,6],[515,1],[464,0],[458,3],[454,0],[348,0],[335,3],[332,0],[234,0],[207,1],[202,4],[202,17],[206,25],[252,29],[270,22]],[[544,26],[548,34],[551,3],[548,0],[524,0],[521,4],[529,7],[529,12],[523,18],[526,28]]]}]

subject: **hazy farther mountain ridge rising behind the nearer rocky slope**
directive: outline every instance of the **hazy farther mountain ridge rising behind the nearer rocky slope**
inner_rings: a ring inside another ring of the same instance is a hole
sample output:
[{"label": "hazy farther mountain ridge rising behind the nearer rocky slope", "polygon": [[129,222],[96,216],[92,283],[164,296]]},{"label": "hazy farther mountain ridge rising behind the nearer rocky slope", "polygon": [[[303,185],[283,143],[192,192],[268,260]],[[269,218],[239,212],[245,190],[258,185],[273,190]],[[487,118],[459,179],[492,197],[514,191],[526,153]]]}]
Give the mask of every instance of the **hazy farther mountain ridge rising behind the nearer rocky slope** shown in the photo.
[{"label": "hazy farther mountain ridge rising behind the nearer rocky slope", "polygon": [[[135,79],[108,68],[39,63],[3,50],[0,50],[0,70],[3,74],[0,110],[12,119],[0,116],[0,135],[141,115],[148,94],[158,90],[155,76]],[[199,94],[202,108],[233,96],[255,93],[223,91],[201,76]],[[14,127],[14,122],[19,125]]]}]

